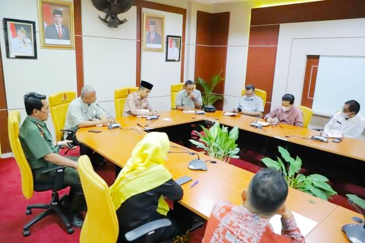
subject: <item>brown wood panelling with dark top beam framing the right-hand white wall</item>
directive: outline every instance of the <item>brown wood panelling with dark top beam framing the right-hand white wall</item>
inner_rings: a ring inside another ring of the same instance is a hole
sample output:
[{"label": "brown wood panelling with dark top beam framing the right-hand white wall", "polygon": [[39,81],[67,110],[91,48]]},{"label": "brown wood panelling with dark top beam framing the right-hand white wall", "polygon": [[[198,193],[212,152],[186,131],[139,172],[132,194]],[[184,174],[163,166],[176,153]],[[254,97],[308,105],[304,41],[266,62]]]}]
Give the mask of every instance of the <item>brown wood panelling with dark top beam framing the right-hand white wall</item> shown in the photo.
[{"label": "brown wood panelling with dark top beam framing the right-hand white wall", "polygon": [[365,17],[365,1],[363,0],[326,0],[252,9],[246,85],[253,84],[255,87],[268,92],[265,112],[268,112],[271,106],[281,23],[363,17]]}]

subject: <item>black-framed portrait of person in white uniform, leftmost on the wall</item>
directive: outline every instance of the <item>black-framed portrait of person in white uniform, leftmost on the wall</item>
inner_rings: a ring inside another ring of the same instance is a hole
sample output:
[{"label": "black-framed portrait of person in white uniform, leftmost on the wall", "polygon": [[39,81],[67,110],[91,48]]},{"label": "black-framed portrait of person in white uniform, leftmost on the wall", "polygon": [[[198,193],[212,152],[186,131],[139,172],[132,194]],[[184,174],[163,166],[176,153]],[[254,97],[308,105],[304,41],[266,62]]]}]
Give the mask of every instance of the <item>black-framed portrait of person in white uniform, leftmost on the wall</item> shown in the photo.
[{"label": "black-framed portrait of person in white uniform, leftmost on the wall", "polygon": [[4,18],[4,32],[8,58],[37,58],[34,21]]}]

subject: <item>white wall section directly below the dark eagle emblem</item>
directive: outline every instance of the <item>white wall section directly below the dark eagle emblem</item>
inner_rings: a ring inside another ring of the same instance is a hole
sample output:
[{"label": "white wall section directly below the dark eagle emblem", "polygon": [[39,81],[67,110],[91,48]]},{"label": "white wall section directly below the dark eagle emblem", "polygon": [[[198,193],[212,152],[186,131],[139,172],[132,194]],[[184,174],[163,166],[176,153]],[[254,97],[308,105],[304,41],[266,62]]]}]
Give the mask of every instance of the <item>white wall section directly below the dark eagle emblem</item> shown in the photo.
[{"label": "white wall section directly below the dark eagle emblem", "polygon": [[132,6],[118,16],[128,20],[118,28],[107,27],[98,15],[104,17],[105,13],[82,0],[84,85],[96,89],[97,101],[114,116],[114,90],[135,86],[137,8]]}]

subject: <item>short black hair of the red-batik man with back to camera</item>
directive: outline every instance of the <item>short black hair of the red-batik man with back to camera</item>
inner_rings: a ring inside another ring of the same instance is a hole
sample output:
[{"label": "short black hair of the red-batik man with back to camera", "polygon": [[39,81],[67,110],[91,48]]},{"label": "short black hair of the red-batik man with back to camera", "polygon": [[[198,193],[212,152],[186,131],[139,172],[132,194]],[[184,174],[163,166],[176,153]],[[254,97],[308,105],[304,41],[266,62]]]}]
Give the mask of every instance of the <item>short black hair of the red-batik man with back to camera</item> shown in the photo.
[{"label": "short black hair of the red-batik man with back to camera", "polygon": [[266,168],[254,175],[247,192],[253,209],[271,216],[284,204],[288,186],[281,172]]}]

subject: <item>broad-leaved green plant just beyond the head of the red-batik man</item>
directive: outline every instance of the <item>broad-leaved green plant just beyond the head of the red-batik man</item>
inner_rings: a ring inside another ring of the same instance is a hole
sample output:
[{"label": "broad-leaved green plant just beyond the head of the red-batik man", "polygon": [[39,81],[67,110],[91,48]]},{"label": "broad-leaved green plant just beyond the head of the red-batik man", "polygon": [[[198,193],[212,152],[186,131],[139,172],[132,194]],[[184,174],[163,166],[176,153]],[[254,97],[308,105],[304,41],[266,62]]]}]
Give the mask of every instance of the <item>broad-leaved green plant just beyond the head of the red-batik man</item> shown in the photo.
[{"label": "broad-leaved green plant just beyond the head of the red-batik man", "polygon": [[284,174],[289,187],[324,200],[327,200],[331,195],[337,194],[337,192],[327,183],[329,179],[326,177],[318,174],[309,176],[300,174],[299,171],[302,167],[302,160],[300,157],[297,156],[294,159],[285,148],[280,146],[278,146],[278,150],[281,157],[288,163],[288,170],[280,157],[277,157],[277,161],[269,157],[263,158],[261,161],[263,161],[268,168],[281,171]]}]

